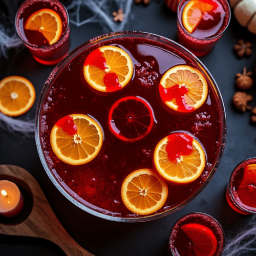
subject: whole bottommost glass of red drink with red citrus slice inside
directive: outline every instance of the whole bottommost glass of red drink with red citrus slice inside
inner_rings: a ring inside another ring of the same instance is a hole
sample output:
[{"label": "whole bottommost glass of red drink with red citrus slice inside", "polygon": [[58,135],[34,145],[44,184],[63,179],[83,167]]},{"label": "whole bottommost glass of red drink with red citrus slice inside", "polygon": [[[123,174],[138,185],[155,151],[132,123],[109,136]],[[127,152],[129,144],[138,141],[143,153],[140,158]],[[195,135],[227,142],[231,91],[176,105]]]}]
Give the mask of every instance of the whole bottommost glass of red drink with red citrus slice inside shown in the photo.
[{"label": "whole bottommost glass of red drink with red citrus slice inside", "polygon": [[223,230],[210,216],[189,214],[173,227],[169,249],[174,256],[221,255],[224,249]]}]

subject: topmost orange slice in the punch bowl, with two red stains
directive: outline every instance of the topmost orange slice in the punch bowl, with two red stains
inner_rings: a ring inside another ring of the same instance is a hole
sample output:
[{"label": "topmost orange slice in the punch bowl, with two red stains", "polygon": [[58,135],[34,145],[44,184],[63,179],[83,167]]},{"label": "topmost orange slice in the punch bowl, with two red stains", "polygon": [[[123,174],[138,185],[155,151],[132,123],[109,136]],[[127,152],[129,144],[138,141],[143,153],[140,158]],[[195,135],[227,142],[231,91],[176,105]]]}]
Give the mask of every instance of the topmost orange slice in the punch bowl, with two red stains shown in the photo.
[{"label": "topmost orange slice in the punch bowl, with two red stains", "polygon": [[122,89],[131,80],[133,62],[121,48],[102,46],[88,55],[83,74],[93,89],[113,92]]}]

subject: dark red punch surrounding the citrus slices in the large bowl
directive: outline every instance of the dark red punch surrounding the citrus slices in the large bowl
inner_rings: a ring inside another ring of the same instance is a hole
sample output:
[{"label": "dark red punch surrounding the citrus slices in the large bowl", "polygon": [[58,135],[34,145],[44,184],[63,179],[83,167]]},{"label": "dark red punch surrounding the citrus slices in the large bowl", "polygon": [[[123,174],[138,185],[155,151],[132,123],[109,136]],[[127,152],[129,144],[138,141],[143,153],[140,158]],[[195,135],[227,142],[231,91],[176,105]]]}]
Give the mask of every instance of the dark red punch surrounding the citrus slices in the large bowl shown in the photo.
[{"label": "dark red punch surrounding the citrus slices in the large bowl", "polygon": [[[83,77],[83,65],[90,52],[104,45],[117,46],[129,53],[134,75],[123,89],[102,95],[90,89]],[[182,116],[167,111],[158,88],[162,75],[176,65],[193,66],[188,58],[166,45],[148,39],[117,38],[93,46],[74,57],[56,77],[42,104],[39,131],[42,151],[59,183],[82,204],[106,215],[136,217],[122,202],[122,182],[136,169],[154,169],[155,146],[174,131],[187,131],[196,136],[205,147],[207,162],[202,175],[193,183],[183,186],[168,184],[168,190],[172,193],[169,193],[166,203],[158,212],[183,203],[208,177],[217,161],[220,147],[222,124],[217,96],[208,83],[207,100],[199,109]],[[144,99],[154,112],[153,124],[143,119],[151,127],[150,132],[132,142],[125,142],[113,134],[109,123],[112,106],[128,96]],[[61,117],[72,113],[93,116],[104,132],[101,151],[88,164],[72,166],[64,163],[51,149],[50,132],[53,125]]]}]

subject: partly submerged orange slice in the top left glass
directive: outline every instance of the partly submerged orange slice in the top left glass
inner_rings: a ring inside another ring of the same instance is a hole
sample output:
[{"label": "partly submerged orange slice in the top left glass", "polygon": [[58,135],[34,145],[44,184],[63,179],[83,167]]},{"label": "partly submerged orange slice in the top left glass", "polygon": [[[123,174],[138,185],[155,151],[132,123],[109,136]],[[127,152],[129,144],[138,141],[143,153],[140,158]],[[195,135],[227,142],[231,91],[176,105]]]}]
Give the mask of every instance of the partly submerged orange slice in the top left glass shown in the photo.
[{"label": "partly submerged orange slice in the top left glass", "polygon": [[41,32],[52,45],[60,38],[62,22],[55,11],[41,9],[29,16],[24,28]]}]

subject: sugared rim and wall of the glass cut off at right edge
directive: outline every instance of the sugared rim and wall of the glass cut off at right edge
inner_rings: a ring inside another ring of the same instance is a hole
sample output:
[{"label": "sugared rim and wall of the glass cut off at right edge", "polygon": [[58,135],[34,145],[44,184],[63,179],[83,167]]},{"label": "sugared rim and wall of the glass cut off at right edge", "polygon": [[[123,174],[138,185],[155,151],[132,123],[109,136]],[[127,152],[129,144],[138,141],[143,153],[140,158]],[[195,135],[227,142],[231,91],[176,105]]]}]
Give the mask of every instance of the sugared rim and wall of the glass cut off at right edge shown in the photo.
[{"label": "sugared rim and wall of the glass cut off at right edge", "polygon": [[[243,203],[238,194],[238,186],[241,184],[242,180],[244,179],[244,169],[248,164],[256,164],[256,158],[248,158],[242,162],[240,162],[231,173],[229,183],[226,188],[226,200],[228,205],[239,214],[249,215],[249,214],[256,214],[256,207],[250,207]],[[256,191],[256,176],[252,178],[254,183],[247,185],[244,189],[254,189]],[[256,192],[255,192],[256,193]],[[256,205],[256,200],[255,200]]]}]

